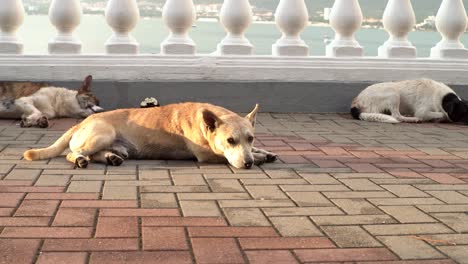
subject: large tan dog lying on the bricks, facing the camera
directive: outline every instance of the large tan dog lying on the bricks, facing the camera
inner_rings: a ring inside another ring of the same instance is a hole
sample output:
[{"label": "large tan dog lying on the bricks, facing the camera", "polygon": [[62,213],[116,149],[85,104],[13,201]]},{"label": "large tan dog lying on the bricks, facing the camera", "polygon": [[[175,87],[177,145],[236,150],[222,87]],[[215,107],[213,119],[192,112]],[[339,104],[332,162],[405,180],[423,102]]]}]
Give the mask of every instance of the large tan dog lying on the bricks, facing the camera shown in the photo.
[{"label": "large tan dog lying on the bricks, facing the camera", "polygon": [[67,160],[80,168],[88,160],[119,166],[124,159],[196,159],[250,169],[277,158],[253,147],[257,111],[258,105],[240,117],[211,104],[181,103],[95,114],[52,146],[26,151],[24,158],[56,157],[69,146]]}]

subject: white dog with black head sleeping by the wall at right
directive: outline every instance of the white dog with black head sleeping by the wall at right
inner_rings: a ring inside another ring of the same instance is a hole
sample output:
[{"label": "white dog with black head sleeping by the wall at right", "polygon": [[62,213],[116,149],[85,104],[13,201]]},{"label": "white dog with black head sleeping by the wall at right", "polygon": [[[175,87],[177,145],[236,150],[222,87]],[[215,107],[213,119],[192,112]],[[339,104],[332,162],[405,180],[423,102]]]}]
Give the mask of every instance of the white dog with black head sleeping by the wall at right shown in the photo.
[{"label": "white dog with black head sleeping by the wall at right", "polygon": [[429,79],[367,87],[351,105],[354,119],[371,122],[468,122],[468,105],[447,85]]}]

